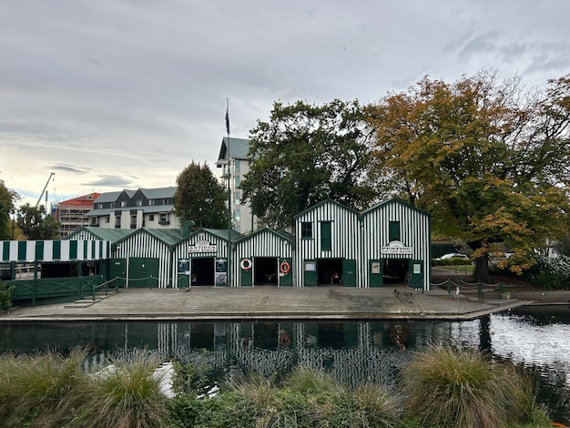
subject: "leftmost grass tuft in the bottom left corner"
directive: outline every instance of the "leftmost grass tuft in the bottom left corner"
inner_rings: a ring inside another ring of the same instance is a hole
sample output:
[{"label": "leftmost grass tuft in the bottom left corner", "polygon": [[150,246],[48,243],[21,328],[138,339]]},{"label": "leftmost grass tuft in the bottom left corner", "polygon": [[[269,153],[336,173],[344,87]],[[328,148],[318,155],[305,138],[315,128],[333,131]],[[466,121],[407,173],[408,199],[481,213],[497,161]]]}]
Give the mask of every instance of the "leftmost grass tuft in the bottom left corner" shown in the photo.
[{"label": "leftmost grass tuft in the bottom left corner", "polygon": [[54,350],[0,358],[0,418],[7,426],[62,426],[75,417],[78,392],[87,378],[81,363],[85,349],[69,355]]}]

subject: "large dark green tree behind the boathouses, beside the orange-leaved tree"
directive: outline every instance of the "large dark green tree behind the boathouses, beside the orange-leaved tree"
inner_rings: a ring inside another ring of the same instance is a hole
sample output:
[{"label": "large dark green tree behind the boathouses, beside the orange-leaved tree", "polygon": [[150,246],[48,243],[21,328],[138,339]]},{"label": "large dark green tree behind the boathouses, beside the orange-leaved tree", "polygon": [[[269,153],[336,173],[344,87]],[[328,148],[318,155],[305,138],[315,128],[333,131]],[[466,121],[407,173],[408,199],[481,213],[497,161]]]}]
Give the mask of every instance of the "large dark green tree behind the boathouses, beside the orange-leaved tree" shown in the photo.
[{"label": "large dark green tree behind the boathouses, beside the orange-leaved tree", "polygon": [[243,198],[262,223],[289,228],[293,217],[322,199],[351,208],[376,197],[371,128],[357,101],[321,106],[273,105],[269,122],[249,132]]}]

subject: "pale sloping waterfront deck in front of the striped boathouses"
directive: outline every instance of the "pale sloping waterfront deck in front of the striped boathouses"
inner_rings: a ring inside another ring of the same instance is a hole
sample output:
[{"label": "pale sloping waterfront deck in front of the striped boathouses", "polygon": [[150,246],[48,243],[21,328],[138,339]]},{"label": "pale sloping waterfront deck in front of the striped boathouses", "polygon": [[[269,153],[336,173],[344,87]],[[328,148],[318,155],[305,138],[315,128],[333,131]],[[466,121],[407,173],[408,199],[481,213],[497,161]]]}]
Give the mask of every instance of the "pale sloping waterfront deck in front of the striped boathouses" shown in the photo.
[{"label": "pale sloping waterfront deck in front of the striped boathouses", "polygon": [[473,301],[435,288],[254,287],[120,289],[69,303],[15,307],[2,322],[224,320],[472,320],[533,301]]}]

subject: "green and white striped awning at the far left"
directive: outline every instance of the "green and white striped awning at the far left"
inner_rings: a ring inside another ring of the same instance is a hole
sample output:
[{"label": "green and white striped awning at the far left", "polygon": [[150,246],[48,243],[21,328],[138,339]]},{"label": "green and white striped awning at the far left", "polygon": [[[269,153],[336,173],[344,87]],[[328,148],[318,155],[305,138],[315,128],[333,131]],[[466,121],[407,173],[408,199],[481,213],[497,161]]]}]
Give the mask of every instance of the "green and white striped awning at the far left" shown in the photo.
[{"label": "green and white striped awning at the far left", "polygon": [[107,240],[3,240],[2,262],[102,260],[110,255]]}]

